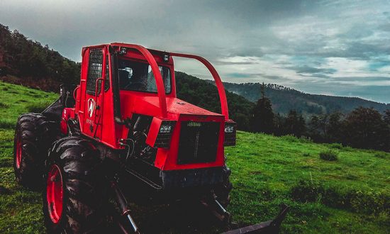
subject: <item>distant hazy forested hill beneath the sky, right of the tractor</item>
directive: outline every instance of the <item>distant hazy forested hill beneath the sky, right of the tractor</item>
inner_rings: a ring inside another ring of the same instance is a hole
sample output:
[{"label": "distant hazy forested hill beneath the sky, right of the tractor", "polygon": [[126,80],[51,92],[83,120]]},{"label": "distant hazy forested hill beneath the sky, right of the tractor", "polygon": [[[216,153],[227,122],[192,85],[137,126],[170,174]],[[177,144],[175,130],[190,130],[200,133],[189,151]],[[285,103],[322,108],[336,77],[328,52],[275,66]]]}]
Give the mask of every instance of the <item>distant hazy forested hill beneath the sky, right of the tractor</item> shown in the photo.
[{"label": "distant hazy forested hill beneath the sky, right of the tractor", "polygon": [[[244,96],[250,101],[260,99],[261,85],[260,83],[224,83],[226,90]],[[383,113],[390,108],[390,104],[381,104],[355,97],[306,94],[277,84],[266,84],[264,93],[271,100],[274,112],[281,114],[286,114],[290,110],[296,110],[303,113],[304,116],[335,111],[349,113],[359,106],[372,107]]]}]

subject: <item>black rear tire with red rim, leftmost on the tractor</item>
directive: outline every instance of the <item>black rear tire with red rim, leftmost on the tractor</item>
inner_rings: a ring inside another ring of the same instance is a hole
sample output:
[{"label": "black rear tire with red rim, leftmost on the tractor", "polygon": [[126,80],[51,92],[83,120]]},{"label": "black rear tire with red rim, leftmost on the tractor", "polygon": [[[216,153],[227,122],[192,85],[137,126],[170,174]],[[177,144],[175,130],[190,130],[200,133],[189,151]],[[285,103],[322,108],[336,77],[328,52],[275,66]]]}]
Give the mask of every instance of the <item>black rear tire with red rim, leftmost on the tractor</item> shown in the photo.
[{"label": "black rear tire with red rim, leftmost on the tractor", "polygon": [[48,149],[57,140],[57,123],[39,113],[23,113],[16,123],[13,169],[18,184],[30,189],[43,185],[43,168]]}]

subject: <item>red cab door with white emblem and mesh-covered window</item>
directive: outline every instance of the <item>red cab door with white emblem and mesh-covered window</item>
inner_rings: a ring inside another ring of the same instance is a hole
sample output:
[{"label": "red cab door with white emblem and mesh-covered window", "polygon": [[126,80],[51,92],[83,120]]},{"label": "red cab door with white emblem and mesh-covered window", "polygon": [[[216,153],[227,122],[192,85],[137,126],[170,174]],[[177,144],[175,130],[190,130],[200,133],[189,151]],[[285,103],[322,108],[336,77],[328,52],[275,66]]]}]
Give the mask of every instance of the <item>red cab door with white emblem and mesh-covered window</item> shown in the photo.
[{"label": "red cab door with white emblem and mesh-covered window", "polygon": [[101,138],[101,114],[103,112],[104,79],[106,74],[105,48],[89,49],[87,84],[84,101],[84,134]]}]

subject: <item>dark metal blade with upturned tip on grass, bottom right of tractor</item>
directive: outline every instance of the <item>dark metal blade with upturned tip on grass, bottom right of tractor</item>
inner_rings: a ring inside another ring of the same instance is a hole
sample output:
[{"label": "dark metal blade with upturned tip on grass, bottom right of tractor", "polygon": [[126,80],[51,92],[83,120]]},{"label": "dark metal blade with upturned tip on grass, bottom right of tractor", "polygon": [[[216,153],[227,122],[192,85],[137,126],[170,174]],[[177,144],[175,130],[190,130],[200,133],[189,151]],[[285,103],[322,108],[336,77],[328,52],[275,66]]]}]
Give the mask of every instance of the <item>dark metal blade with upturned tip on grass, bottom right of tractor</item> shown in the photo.
[{"label": "dark metal blade with upturned tip on grass, bottom right of tractor", "polygon": [[270,221],[249,225],[247,227],[238,228],[235,230],[229,230],[223,234],[279,233],[280,225],[282,224],[282,221],[286,217],[287,211],[289,211],[289,206],[282,204],[282,209],[279,212],[277,218],[274,218]]}]

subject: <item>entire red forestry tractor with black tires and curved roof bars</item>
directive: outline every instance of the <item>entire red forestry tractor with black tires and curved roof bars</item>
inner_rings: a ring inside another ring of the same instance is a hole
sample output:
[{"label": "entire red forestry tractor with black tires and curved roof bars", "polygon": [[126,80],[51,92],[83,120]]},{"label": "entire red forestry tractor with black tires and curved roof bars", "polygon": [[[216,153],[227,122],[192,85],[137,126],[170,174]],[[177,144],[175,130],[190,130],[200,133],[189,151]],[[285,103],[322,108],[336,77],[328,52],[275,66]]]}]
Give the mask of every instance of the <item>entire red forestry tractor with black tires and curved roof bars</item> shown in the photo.
[{"label": "entire red forestry tractor with black tires and curved roof bars", "polygon": [[[199,60],[216,81],[222,113],[177,99],[172,57]],[[111,43],[82,49],[79,85],[42,113],[18,118],[16,180],[43,189],[49,233],[138,233],[127,199],[199,202],[226,224],[232,184],[224,146],[235,145],[225,90],[203,57]],[[272,221],[231,233],[275,233]],[[111,230],[108,230],[111,228]]]}]

